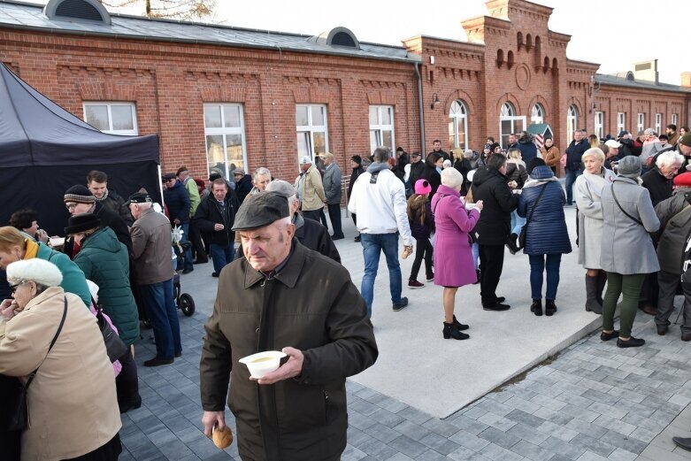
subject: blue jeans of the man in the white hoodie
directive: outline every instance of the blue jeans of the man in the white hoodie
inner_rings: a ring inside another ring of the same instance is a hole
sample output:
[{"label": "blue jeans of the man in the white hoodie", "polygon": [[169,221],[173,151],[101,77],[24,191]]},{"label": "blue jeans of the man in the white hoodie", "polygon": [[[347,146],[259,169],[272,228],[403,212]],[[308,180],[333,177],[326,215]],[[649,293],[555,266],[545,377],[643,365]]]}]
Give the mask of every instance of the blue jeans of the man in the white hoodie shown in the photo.
[{"label": "blue jeans of the man in the white hoodie", "polygon": [[365,275],[362,278],[360,292],[367,303],[367,317],[372,317],[372,299],[374,298],[374,279],[377,278],[381,251],[387,257],[388,288],[391,292],[391,303],[401,302],[401,265],[398,264],[398,234],[360,234],[362,254],[365,257]]}]

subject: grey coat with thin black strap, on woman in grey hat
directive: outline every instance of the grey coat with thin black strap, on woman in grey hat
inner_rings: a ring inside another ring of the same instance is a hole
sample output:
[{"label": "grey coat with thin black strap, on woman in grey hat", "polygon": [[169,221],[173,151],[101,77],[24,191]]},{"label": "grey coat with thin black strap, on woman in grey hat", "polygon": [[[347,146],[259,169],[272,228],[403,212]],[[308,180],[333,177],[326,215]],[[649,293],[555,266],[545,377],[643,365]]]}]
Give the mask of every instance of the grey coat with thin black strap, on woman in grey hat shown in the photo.
[{"label": "grey coat with thin black strap, on woman in grey hat", "polygon": [[[642,226],[621,211],[612,196],[617,195],[621,207]],[[600,265],[608,273],[630,275],[655,273],[660,270],[650,232],[660,227],[647,188],[630,178],[618,177],[603,188],[603,246]]]}]

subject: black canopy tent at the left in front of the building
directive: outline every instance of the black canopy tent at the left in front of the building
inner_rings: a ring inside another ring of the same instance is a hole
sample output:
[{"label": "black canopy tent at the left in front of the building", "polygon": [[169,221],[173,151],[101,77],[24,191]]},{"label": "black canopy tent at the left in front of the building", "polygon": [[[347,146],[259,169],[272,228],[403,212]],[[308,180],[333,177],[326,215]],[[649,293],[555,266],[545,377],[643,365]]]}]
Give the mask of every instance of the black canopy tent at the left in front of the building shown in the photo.
[{"label": "black canopy tent at the left in front of the building", "polygon": [[102,133],[0,63],[0,225],[29,207],[49,234],[64,234],[65,190],[86,185],[91,170],[121,196],[146,188],[160,202],[158,165],[157,135]]}]

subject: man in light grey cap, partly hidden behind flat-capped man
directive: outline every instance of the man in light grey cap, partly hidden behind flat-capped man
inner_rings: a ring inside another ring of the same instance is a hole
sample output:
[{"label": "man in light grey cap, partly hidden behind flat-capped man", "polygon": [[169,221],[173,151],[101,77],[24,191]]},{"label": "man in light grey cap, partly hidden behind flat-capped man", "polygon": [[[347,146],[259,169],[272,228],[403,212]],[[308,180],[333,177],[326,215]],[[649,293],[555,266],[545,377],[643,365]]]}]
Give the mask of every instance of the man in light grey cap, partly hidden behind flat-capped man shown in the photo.
[{"label": "man in light grey cap, partly hidden behind flat-capped man", "polygon": [[297,212],[300,203],[297,201],[296,188],[288,181],[275,180],[266,186],[267,191],[278,192],[281,196],[288,198],[290,215],[296,227],[297,241],[302,243],[310,250],[319,251],[322,255],[332,258],[335,262],[341,262],[341,255],[331,240],[326,227],[320,225],[313,219],[304,219]]}]

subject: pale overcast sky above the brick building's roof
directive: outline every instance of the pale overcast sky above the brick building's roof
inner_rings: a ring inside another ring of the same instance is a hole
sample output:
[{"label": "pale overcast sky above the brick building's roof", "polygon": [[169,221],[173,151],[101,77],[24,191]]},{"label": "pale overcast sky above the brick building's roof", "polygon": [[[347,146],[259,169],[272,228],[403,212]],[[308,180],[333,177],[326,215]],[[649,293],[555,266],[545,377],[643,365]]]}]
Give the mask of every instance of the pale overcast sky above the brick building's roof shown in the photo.
[{"label": "pale overcast sky above the brick building's roof", "polygon": [[[116,1],[116,0],[111,0]],[[36,2],[45,3],[45,2]],[[142,2],[143,3],[143,2]],[[633,62],[657,58],[660,81],[679,85],[691,71],[689,0],[549,0],[549,29],[572,35],[568,58],[599,63],[600,73],[633,70]],[[415,35],[465,41],[461,21],[488,14],[482,0],[424,0],[411,9],[400,0],[217,0],[227,26],[319,35],[348,27],[361,42],[401,45]]]}]

